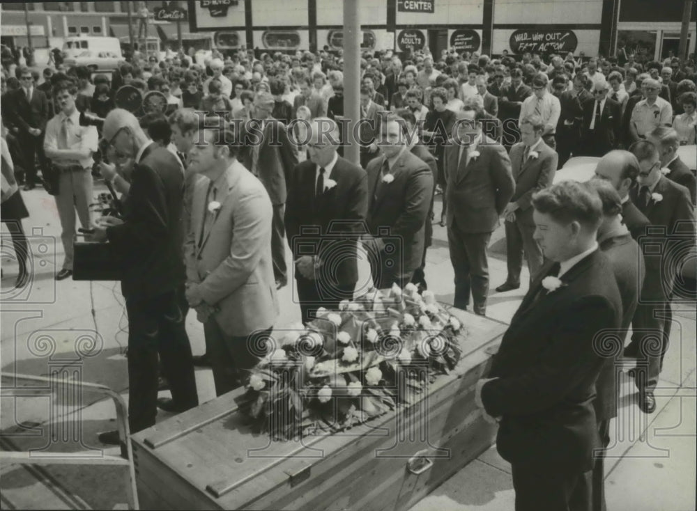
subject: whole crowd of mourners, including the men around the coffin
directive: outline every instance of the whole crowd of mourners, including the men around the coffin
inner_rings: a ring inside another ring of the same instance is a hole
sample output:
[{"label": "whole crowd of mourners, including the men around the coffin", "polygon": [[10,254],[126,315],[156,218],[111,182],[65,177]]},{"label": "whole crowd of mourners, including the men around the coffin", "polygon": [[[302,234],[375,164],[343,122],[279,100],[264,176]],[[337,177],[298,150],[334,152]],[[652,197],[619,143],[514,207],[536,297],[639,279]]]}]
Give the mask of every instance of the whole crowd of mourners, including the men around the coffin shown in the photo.
[{"label": "whole crowd of mourners, including the men around the coffin", "polygon": [[[594,452],[608,446],[617,413],[615,357],[642,361],[631,374],[638,406],[652,413],[675,280],[692,250],[684,243],[694,244],[695,162],[677,155],[696,142],[694,56],[365,53],[356,164],[342,157],[342,64],[328,49],[242,50],[204,65],[184,54],[136,60],[111,78],[61,66],[43,70],[43,83],[26,67],[3,74],[2,219],[17,286],[27,279],[19,186],[31,192],[40,171],[63,228],[56,278],[72,274],[76,212],[123,260],[137,432],[155,424],[157,407],[197,406],[194,363],[213,368],[217,395],[245,384],[288,284],[286,244],[305,323],[353,297],[358,247],[376,288],[426,290],[441,194],[454,306],[486,315],[487,248],[501,221],[508,268],[496,291],[520,287],[523,258],[530,270],[476,393],[499,423],[516,509],[602,509]],[[158,91],[166,109],[120,108],[123,86]],[[82,112],[103,123],[83,125]],[[577,156],[600,158],[597,177],[553,184]],[[91,218],[93,174],[121,194],[120,216]],[[648,238],[664,251],[643,251]],[[198,358],[189,308],[204,324]],[[611,355],[597,345],[603,331],[620,339]],[[164,385],[171,400],[158,400]]]}]

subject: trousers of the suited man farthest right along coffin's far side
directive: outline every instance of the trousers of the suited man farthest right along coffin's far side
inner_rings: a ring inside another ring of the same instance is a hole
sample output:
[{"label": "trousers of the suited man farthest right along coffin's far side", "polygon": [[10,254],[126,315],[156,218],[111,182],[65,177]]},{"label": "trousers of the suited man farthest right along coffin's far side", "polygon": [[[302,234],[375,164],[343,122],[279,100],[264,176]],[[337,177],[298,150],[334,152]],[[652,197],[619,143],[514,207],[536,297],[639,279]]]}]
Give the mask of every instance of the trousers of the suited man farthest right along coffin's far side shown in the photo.
[{"label": "trousers of the suited man farthest right along coffin's far side", "polygon": [[[530,282],[542,267],[544,256],[539,244],[533,238],[535,223],[530,215],[519,214],[516,211],[514,222],[505,222],[506,230],[506,262],[508,265],[507,282],[514,285],[521,283],[521,270],[523,269],[523,253],[528,261],[530,270]],[[522,218],[521,218],[522,217]]]}]

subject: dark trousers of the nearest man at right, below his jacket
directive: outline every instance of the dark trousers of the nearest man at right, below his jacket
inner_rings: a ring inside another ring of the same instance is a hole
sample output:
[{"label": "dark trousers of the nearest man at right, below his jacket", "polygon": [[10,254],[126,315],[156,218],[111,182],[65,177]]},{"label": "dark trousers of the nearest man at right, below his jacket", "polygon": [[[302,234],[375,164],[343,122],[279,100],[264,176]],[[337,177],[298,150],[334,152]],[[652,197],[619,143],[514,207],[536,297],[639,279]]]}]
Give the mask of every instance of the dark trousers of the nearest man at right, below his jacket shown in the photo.
[{"label": "dark trousers of the nearest man at right, below his jacket", "polygon": [[511,465],[516,511],[590,511],[590,494],[579,498],[576,487],[584,475],[552,467]]}]

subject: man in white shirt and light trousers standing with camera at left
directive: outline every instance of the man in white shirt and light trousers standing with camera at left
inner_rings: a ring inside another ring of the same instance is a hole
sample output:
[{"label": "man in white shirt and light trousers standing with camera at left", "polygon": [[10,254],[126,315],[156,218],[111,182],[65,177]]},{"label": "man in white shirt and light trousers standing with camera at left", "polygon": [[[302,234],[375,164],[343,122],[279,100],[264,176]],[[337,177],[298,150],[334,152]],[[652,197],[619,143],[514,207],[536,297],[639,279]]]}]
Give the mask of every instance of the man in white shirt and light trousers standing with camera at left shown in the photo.
[{"label": "man in white shirt and light trousers standing with camera at left", "polygon": [[49,180],[61,219],[61,241],[66,252],[63,267],[56,274],[56,280],[61,281],[72,275],[75,211],[82,228],[89,229],[91,225],[92,155],[97,150],[99,136],[96,127],[81,126],[79,123],[80,113],[75,107],[75,83],[59,82],[54,87],[53,95],[56,108],[60,111],[46,126],[44,152],[52,162]]}]

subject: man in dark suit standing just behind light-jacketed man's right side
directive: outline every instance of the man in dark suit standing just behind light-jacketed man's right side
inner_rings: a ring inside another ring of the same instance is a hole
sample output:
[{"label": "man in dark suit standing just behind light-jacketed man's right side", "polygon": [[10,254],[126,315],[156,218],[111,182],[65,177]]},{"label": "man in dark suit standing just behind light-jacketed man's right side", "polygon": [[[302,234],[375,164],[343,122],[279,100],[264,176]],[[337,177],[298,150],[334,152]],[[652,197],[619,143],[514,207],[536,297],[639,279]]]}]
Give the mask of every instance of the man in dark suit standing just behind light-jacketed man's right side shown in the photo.
[{"label": "man in dark suit standing just behind light-jacketed man's right side", "polygon": [[298,157],[291,145],[285,125],[271,116],[273,106],[272,95],[266,92],[256,93],[254,119],[260,122],[250,124],[250,130],[244,139],[247,151],[241,162],[263,183],[273,204],[271,252],[276,288],[280,289],[288,283],[283,222],[288,196],[286,183],[293,168],[298,164]]}]

